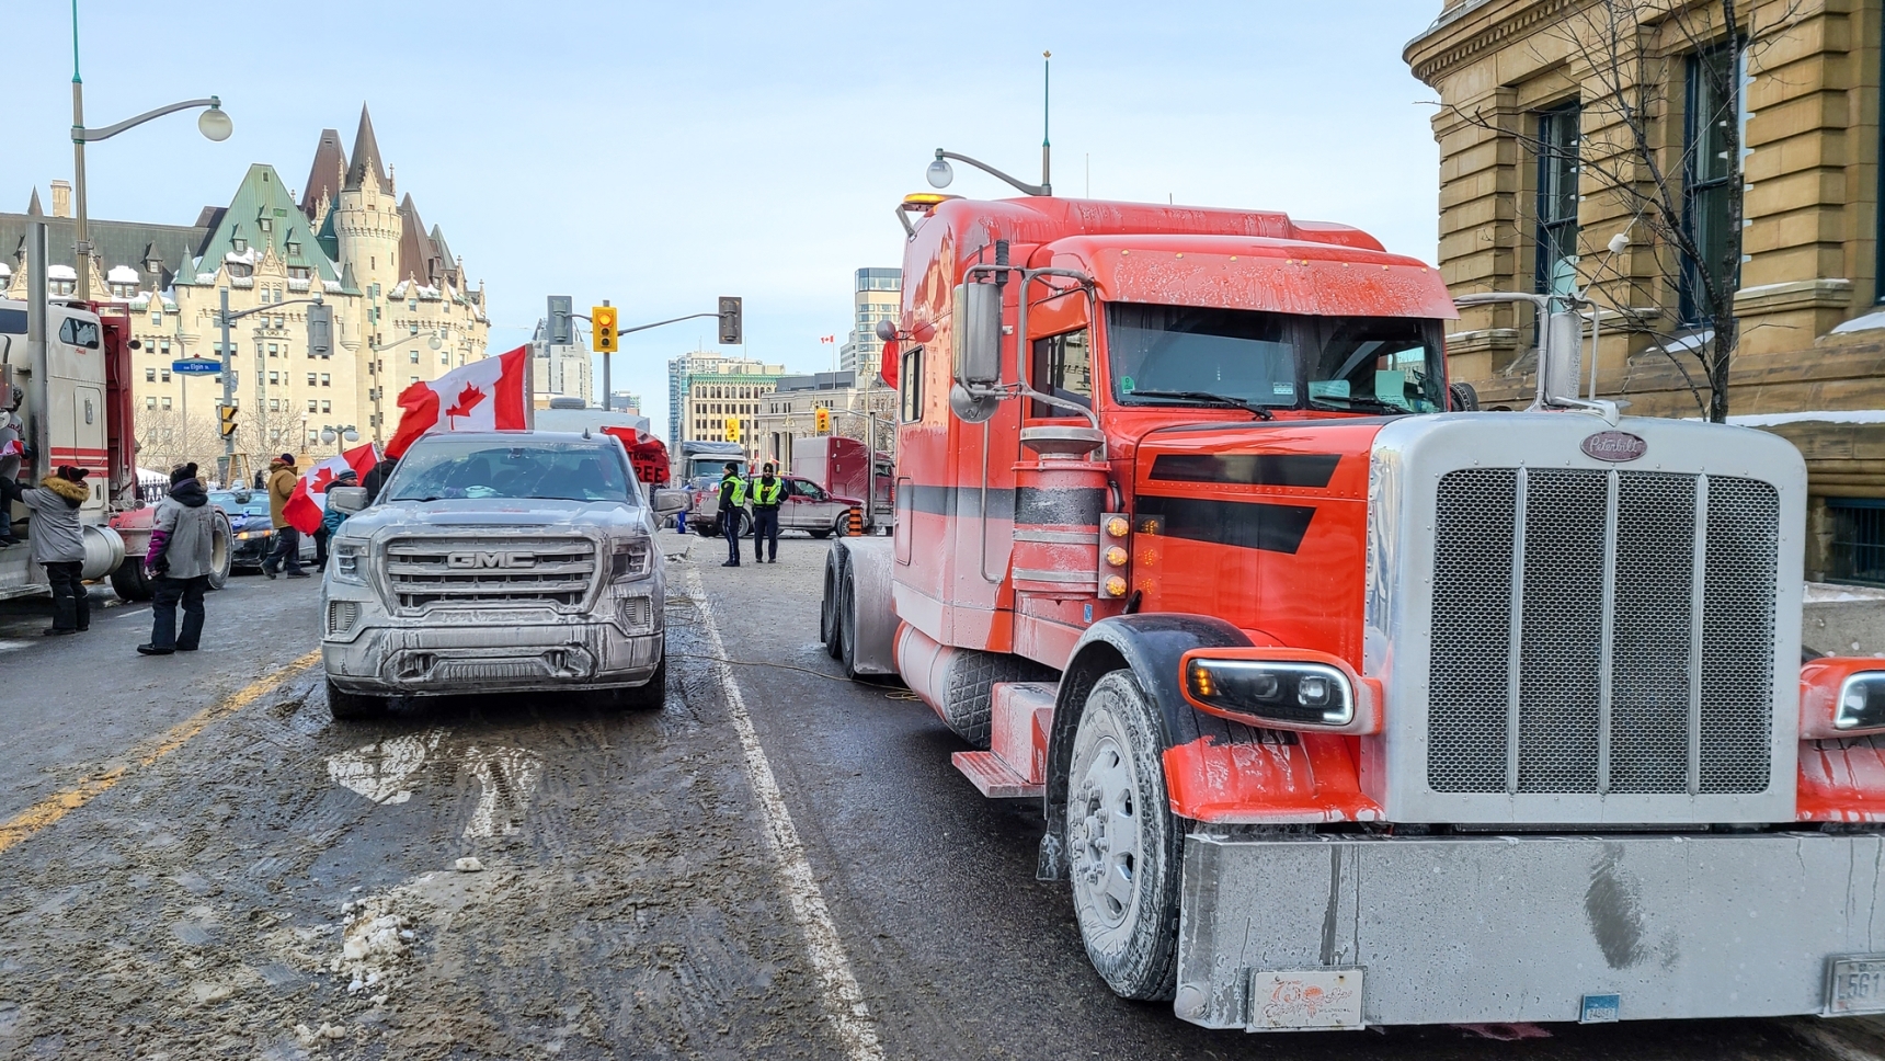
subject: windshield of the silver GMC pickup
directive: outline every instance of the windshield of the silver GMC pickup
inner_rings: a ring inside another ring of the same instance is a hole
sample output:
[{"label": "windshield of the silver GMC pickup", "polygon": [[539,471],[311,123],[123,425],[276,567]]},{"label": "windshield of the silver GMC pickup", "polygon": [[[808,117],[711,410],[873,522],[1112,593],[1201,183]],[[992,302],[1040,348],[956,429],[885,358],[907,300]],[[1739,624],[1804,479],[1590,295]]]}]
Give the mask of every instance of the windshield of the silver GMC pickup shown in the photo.
[{"label": "windshield of the silver GMC pickup", "polygon": [[426,441],[400,460],[385,501],[535,498],[635,503],[631,473],[615,450],[579,443],[492,445]]}]

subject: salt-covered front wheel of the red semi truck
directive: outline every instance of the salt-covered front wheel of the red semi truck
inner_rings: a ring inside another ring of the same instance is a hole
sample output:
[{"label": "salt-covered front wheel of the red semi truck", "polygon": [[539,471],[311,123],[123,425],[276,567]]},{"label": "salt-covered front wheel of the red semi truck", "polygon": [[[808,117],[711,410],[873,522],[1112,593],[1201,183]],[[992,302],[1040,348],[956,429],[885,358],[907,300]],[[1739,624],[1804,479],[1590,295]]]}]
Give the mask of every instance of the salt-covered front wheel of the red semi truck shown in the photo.
[{"label": "salt-covered front wheel of the red semi truck", "polygon": [[1129,671],[1093,684],[1073,739],[1067,856],[1086,955],[1122,999],[1178,986],[1184,839],[1165,797],[1159,714]]}]

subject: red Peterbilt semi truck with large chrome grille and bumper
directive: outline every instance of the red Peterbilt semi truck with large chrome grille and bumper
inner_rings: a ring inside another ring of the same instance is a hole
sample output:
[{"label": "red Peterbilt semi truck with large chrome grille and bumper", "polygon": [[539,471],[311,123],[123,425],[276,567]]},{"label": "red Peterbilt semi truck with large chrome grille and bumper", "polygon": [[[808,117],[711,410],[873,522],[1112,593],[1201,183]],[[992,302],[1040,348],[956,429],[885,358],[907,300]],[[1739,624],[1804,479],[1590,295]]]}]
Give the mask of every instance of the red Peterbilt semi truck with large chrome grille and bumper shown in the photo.
[{"label": "red Peterbilt semi truck with large chrome grille and bumper", "polygon": [[[1438,269],[1280,213],[912,196],[895,528],[822,628],[1041,801],[1208,1027],[1885,1008],[1885,663],[1802,665],[1783,439],[1448,388]],[[1557,313],[1551,313],[1551,311]]]}]

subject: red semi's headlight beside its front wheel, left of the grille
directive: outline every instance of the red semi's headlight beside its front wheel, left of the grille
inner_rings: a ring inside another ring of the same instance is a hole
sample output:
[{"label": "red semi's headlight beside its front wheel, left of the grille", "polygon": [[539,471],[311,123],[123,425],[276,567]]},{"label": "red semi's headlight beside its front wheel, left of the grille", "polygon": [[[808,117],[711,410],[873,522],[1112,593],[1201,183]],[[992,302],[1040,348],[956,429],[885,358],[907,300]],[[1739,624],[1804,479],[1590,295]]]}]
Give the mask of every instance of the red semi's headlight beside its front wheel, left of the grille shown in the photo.
[{"label": "red semi's headlight beside its front wheel, left of the grille", "polygon": [[1191,707],[1246,726],[1380,733],[1380,682],[1301,648],[1193,648],[1178,663]]}]

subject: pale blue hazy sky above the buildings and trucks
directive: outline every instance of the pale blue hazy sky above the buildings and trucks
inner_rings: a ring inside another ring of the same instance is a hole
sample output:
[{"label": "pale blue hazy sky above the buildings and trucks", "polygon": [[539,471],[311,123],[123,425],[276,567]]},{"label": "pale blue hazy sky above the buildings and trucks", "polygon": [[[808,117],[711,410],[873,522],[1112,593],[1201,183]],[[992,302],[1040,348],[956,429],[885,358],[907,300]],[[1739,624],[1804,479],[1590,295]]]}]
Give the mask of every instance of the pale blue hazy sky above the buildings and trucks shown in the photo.
[{"label": "pale blue hazy sky above the buildings and trucks", "polygon": [[[4,0],[0,207],[72,177],[70,0]],[[1061,194],[1282,209],[1434,258],[1434,94],[1401,49],[1438,0],[1056,8],[988,4],[458,4],[79,0],[87,124],[219,94],[236,136],[168,117],[89,149],[90,215],[188,224],[251,162],[307,179],[322,128],[373,109],[385,162],[490,292],[492,351],[543,296],[622,326],[746,300],[746,354],[831,367],[852,269],[899,266],[892,211],[937,147],[1039,179],[1054,53]],[[19,47],[32,41],[34,47]],[[958,166],[950,192],[1005,196]],[[711,320],[615,362],[662,430],[665,360]]]}]

